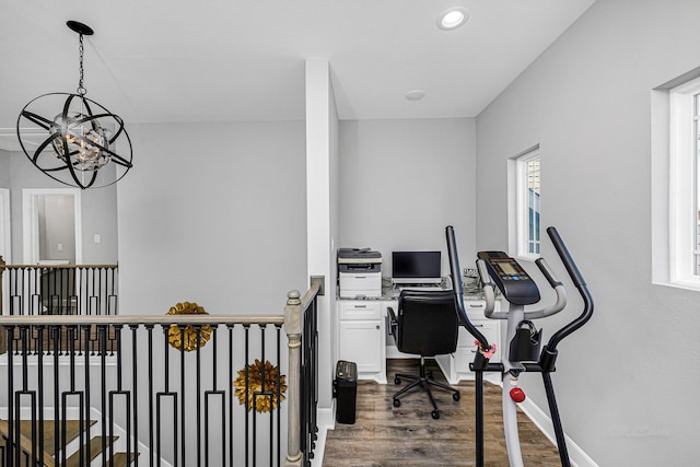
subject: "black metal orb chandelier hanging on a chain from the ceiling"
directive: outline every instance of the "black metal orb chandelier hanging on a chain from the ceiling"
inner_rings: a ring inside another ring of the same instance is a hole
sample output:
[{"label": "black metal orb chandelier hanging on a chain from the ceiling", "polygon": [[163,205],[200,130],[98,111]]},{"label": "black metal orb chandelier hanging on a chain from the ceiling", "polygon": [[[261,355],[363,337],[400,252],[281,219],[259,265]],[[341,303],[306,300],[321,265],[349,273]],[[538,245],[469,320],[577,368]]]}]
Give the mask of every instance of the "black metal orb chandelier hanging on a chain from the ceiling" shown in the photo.
[{"label": "black metal orb chandelier hanging on a chain from the ceiling", "polygon": [[131,140],[119,116],[85,97],[83,36],[94,31],[77,21],[66,24],[80,36],[78,90],[30,101],[18,118],[18,138],[30,161],[55,180],[81,189],[104,187],[131,168]]}]

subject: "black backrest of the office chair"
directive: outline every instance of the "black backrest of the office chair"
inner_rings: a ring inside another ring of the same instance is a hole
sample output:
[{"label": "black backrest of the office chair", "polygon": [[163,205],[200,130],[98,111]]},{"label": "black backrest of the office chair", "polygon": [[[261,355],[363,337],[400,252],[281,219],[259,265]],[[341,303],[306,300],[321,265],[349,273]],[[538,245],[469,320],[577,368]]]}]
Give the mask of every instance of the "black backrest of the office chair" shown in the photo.
[{"label": "black backrest of the office chair", "polygon": [[398,297],[396,347],[423,357],[457,349],[458,320],[452,291],[401,291]]}]

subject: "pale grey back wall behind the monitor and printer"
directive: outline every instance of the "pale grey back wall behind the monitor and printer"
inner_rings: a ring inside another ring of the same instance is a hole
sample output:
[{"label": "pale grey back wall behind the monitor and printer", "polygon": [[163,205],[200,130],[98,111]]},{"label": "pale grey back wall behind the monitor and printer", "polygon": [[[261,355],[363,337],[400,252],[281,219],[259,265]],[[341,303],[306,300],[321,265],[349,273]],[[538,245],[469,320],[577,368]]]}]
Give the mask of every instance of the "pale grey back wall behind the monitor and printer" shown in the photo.
[{"label": "pale grey back wall behind the monitor and printer", "polygon": [[474,119],[340,122],[340,247],[440,249],[453,225],[463,267],[476,259]]}]

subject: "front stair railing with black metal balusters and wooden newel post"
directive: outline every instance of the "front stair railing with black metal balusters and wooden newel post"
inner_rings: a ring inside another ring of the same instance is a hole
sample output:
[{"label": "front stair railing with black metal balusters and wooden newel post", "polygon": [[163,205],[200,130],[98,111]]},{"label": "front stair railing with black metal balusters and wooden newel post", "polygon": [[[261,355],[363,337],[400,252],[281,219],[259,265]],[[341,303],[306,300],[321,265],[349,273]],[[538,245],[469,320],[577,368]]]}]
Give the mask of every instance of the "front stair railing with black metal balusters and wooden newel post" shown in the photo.
[{"label": "front stair railing with black metal balusters and wooden newel post", "polygon": [[0,316],[0,465],[310,466],[320,289],[283,315]]}]

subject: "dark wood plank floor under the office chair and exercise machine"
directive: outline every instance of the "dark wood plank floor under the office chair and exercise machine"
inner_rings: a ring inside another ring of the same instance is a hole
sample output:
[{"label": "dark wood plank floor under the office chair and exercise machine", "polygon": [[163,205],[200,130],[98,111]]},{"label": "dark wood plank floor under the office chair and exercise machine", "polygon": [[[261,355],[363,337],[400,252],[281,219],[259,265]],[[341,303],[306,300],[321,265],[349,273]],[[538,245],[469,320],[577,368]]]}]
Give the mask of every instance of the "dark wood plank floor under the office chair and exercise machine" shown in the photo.
[{"label": "dark wood plank floor under the office chair and exercise machine", "polygon": [[[400,388],[394,385],[394,373],[418,374],[418,360],[388,360],[389,384],[358,382],[354,424],[336,423],[326,435],[324,467],[428,467],[474,466],[474,383],[456,387],[462,400],[455,402],[447,392],[435,389],[440,419],[430,416],[432,406],[422,390],[401,397],[395,408],[392,395]],[[444,382],[434,361],[429,369]],[[485,464],[508,466],[501,388],[485,385]],[[559,466],[559,454],[544,434],[518,411],[518,428],[523,462],[526,466]]]}]

